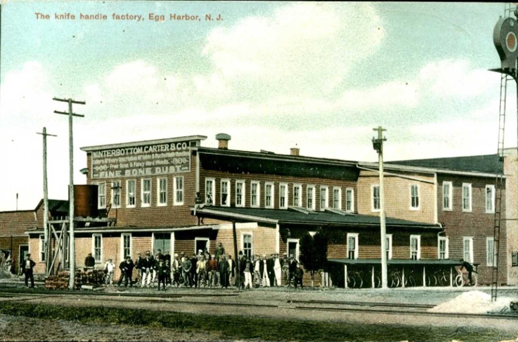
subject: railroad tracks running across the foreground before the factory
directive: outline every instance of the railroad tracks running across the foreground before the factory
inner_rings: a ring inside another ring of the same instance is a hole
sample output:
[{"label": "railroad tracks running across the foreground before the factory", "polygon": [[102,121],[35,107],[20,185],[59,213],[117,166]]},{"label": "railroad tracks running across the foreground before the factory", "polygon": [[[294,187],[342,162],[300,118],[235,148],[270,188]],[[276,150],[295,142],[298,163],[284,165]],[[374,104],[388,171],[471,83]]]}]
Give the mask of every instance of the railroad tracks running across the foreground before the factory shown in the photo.
[{"label": "railroad tracks running across the foreground before the factory", "polygon": [[[213,296],[238,296],[238,293],[225,294],[202,294],[202,293],[185,293],[185,294],[165,294],[165,293],[117,293],[117,292],[80,292],[73,291],[0,291],[0,298],[7,298],[12,296],[23,296],[27,298],[13,299],[13,301],[28,301],[35,300],[42,297],[49,296],[107,296],[107,297],[128,297],[136,298],[132,302],[162,302],[167,299],[167,305],[196,305],[196,306],[232,306],[232,307],[257,307],[257,308],[271,308],[271,309],[291,309],[291,310],[318,310],[330,312],[350,312],[350,313],[372,313],[372,314],[387,314],[387,315],[424,315],[424,316],[442,316],[442,317],[456,317],[456,318],[499,318],[511,319],[518,321],[518,313],[516,314],[466,314],[466,313],[436,313],[426,311],[428,308],[434,307],[431,304],[407,304],[407,303],[383,303],[383,302],[348,302],[348,301],[301,301],[301,300],[287,300],[286,304],[258,304],[258,303],[225,303],[225,302],[205,302],[205,301],[191,301],[181,300],[185,297],[209,298]],[[177,300],[175,300],[177,299]],[[103,301],[116,302],[116,298],[103,298]],[[301,306],[297,304],[311,304],[311,306]],[[329,306],[329,305],[335,305]],[[390,308],[390,309],[387,309]]]}]

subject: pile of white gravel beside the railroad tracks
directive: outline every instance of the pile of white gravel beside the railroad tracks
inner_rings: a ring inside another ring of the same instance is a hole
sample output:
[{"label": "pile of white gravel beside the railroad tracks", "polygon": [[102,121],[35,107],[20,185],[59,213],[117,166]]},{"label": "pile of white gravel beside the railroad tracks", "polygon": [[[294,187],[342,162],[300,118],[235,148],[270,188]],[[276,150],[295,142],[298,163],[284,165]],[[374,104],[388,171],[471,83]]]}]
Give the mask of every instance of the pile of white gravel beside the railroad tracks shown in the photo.
[{"label": "pile of white gravel beside the railroad tracks", "polygon": [[458,314],[486,314],[498,313],[513,301],[510,297],[498,297],[496,302],[491,302],[491,294],[481,291],[468,291],[456,296],[454,299],[441,303],[431,309],[431,313],[458,313]]}]

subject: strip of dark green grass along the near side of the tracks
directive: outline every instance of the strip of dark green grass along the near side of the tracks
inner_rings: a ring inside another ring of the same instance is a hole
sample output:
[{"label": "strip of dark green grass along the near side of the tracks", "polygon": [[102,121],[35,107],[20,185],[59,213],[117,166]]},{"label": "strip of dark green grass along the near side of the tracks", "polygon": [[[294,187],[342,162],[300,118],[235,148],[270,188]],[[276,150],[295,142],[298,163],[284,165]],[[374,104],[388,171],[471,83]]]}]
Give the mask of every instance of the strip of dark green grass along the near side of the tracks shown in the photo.
[{"label": "strip of dark green grass along the near side of the tracks", "polygon": [[[81,323],[128,324],[181,331],[216,331],[226,339],[261,338],[265,340],[501,340],[510,336],[496,329],[448,328],[314,322],[242,316],[121,309],[73,307],[48,304],[0,302],[0,314],[39,319],[61,319]],[[331,314],[330,314],[331,315]]]}]

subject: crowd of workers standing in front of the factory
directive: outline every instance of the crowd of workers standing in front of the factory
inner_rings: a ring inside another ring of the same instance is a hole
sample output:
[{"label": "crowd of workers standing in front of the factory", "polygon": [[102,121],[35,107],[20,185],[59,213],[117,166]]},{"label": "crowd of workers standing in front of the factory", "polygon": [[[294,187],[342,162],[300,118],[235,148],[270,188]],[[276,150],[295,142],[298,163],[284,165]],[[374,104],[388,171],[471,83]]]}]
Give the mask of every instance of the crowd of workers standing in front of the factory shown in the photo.
[{"label": "crowd of workers standing in front of the factory", "polygon": [[[236,262],[230,254],[225,252],[225,248],[218,244],[215,251],[210,254],[205,250],[199,249],[197,253],[188,255],[185,252],[171,256],[169,251],[159,249],[153,256],[149,250],[145,255],[138,253],[135,262],[127,256],[119,264],[121,276],[118,286],[140,286],[155,287],[165,290],[167,287],[195,287],[204,288],[237,286],[239,283],[243,289],[258,287],[278,287],[282,284],[285,287],[300,285],[303,287],[303,266],[293,258],[287,257],[284,253],[283,258],[274,253],[269,257],[266,255],[244,255],[242,251],[238,255],[239,273],[236,274]],[[85,265],[90,267],[95,265],[90,254],[85,259]],[[106,274],[105,283],[113,285],[113,273],[115,265],[112,259],[108,259],[105,264]],[[133,280],[133,270],[138,273],[136,280]],[[231,285],[232,284],[232,285]]]}]

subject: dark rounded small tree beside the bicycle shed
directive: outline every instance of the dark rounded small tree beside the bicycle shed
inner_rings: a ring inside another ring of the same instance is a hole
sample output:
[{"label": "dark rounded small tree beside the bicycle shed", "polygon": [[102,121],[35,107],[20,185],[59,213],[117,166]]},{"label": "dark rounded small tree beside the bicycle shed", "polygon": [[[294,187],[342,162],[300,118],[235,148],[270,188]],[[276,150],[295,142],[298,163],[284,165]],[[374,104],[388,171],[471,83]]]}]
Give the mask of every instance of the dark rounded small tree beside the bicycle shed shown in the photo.
[{"label": "dark rounded small tree beside the bicycle shed", "polygon": [[311,287],[315,285],[315,273],[323,269],[327,263],[327,237],[316,233],[306,233],[299,240],[300,262],[311,275]]}]

